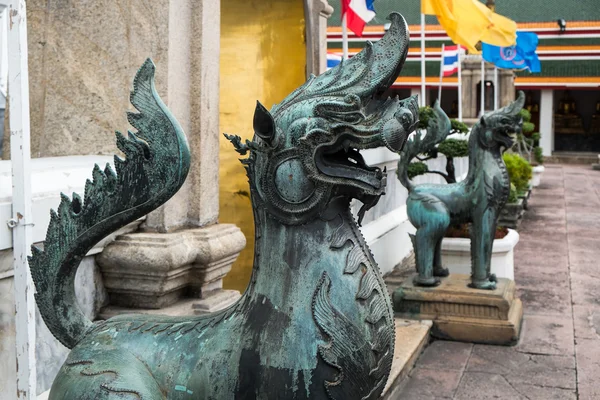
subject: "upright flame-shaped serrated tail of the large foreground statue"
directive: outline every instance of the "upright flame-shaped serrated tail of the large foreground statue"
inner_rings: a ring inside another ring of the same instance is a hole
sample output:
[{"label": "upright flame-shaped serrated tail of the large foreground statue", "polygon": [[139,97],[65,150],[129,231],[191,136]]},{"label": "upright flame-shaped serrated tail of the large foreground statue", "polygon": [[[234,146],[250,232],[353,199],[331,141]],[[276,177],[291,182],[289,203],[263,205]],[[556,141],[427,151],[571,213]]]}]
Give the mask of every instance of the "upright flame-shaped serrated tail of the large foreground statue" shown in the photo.
[{"label": "upright flame-shaped serrated tail of the large foreground statue", "polygon": [[117,132],[117,146],[125,154],[110,165],[94,167],[83,200],[76,193],[61,194],[58,212],[51,210],[50,225],[41,250],[32,246],[29,266],[37,289],[35,299],[52,334],[73,348],[93,323],[75,298],[75,273],[83,257],[100,240],[164,204],[183,185],[190,152],[181,126],[154,87],[155,66],[150,59],[133,81],[128,113],[137,130],[128,137]]}]

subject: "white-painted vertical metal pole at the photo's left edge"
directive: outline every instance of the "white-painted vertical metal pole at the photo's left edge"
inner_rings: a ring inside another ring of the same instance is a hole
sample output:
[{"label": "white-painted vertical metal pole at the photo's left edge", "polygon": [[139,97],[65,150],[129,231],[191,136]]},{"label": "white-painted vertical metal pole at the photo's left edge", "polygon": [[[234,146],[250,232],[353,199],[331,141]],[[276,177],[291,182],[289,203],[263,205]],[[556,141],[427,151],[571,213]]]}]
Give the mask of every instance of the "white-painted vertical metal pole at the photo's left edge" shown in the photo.
[{"label": "white-painted vertical metal pole at the photo's left edge", "polygon": [[17,399],[36,398],[35,301],[27,263],[32,243],[29,71],[25,0],[11,0],[8,23],[8,90],[12,162],[13,258],[16,307]]}]

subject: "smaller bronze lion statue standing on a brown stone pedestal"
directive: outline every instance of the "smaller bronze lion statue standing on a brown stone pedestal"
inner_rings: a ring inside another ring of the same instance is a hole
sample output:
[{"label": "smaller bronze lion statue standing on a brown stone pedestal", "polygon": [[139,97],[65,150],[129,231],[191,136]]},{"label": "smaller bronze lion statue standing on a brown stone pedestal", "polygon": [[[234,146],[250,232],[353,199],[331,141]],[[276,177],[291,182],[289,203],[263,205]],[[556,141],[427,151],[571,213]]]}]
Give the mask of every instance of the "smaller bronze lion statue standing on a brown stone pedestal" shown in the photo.
[{"label": "smaller bronze lion statue standing on a brown stone pedestal", "polygon": [[469,172],[452,184],[413,185],[407,167],[419,154],[430,151],[450,132],[450,120],[436,103],[436,117],[430,119],[427,133],[417,132],[399,152],[398,178],[409,191],[406,201],[410,222],[417,228],[410,235],[416,256],[418,276],[415,284],[436,286],[438,277],[448,276],[442,266],[441,243],[450,225],[471,223],[471,287],[495,289],[496,277],[490,273],[492,245],[498,214],[510,191],[510,181],[502,152],[513,145],[514,133],[521,130],[520,110],[523,92],[507,107],[488,113],[471,129]]}]

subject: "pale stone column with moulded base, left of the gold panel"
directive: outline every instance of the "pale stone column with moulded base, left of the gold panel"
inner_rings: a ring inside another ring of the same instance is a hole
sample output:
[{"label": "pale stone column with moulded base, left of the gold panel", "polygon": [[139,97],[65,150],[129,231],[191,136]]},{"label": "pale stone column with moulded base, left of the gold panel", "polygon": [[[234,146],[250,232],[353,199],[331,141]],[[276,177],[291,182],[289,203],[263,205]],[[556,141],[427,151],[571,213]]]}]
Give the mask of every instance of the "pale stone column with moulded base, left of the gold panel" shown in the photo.
[{"label": "pale stone column with moulded base, left of the gold panel", "polygon": [[97,260],[111,304],[156,309],[191,295],[194,310],[214,311],[239,297],[222,289],[223,277],[246,244],[239,228],[217,222],[220,2],[171,0],[168,12],[166,102],[187,134],[190,172],[143,232],[119,237]]}]

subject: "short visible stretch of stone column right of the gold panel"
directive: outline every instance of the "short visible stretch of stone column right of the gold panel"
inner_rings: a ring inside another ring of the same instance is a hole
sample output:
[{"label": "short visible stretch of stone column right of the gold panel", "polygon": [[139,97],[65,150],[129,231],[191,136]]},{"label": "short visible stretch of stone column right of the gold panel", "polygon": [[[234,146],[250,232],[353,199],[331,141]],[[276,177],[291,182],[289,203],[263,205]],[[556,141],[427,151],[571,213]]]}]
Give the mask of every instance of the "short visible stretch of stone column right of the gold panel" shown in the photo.
[{"label": "short visible stretch of stone column right of the gold panel", "polygon": [[327,18],[332,13],[327,0],[304,0],[307,76],[327,70]]}]

